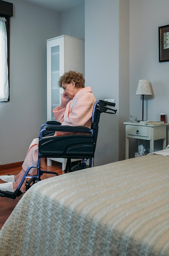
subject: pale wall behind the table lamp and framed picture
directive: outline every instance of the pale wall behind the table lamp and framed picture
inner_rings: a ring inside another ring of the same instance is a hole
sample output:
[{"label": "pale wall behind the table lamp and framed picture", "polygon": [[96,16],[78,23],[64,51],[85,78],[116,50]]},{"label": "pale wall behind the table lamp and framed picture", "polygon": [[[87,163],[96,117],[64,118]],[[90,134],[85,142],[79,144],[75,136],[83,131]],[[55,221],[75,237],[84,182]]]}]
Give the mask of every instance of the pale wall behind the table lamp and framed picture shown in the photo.
[{"label": "pale wall behind the table lamp and framed picture", "polygon": [[129,3],[130,113],[142,119],[142,96],[136,95],[136,89],[139,79],[147,79],[153,96],[144,97],[144,120],[160,120],[160,113],[165,112],[169,122],[169,62],[158,61],[158,27],[169,24],[169,1],[130,0]]}]

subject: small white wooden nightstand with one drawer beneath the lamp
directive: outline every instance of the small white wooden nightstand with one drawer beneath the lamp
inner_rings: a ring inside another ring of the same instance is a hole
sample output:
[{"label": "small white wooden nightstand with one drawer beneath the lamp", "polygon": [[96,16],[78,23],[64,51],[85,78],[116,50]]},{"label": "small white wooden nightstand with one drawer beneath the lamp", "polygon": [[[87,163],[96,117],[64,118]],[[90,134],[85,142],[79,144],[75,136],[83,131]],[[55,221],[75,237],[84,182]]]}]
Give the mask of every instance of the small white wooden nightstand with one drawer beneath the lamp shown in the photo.
[{"label": "small white wooden nightstand with one drawer beneath the lamp", "polygon": [[129,158],[129,138],[149,141],[149,153],[154,152],[154,141],[163,139],[162,149],[166,148],[166,124],[140,124],[124,122],[125,124],[125,159]]}]

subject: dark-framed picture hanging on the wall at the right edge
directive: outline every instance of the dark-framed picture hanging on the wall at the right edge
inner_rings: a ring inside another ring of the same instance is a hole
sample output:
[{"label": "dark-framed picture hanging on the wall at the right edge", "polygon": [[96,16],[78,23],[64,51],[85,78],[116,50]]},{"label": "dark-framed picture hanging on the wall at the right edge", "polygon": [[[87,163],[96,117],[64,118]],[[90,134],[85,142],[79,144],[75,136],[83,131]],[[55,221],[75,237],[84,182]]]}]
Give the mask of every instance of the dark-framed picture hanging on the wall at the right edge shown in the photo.
[{"label": "dark-framed picture hanging on the wall at the right edge", "polygon": [[159,62],[169,61],[169,25],[158,27]]}]

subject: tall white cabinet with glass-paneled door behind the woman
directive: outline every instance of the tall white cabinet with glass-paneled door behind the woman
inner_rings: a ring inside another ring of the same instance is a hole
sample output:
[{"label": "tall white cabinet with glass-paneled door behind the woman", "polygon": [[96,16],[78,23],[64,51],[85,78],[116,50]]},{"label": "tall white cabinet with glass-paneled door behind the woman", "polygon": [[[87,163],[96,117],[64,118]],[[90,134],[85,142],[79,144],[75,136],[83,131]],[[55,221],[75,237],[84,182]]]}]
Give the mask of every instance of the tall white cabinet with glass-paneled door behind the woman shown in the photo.
[{"label": "tall white cabinet with glass-paneled door behind the woman", "polygon": [[[84,40],[71,36],[58,36],[47,40],[47,121],[55,120],[53,109],[61,103],[63,89],[58,87],[59,77],[73,70],[84,75]],[[48,165],[51,165],[48,159]],[[52,159],[62,163],[66,160]]]}]

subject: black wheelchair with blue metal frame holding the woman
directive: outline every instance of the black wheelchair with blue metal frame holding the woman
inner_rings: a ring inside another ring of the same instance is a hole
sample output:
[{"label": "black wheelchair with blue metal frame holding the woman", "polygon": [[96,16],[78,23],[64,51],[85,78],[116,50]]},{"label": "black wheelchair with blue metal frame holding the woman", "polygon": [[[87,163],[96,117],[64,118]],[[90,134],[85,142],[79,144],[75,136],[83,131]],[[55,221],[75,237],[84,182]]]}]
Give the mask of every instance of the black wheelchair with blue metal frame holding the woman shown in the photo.
[{"label": "black wheelchair with blue metal frame holding the woman", "polygon": [[[94,159],[94,152],[97,143],[97,135],[99,130],[99,119],[102,112],[109,114],[116,114],[117,110],[109,108],[114,107],[115,103],[99,100],[94,103],[92,112],[92,124],[91,128],[83,126],[61,126],[57,121],[48,121],[46,124],[42,124],[39,136],[38,145],[38,160],[37,165],[31,165],[26,170],[24,177],[22,178],[18,188],[14,192],[0,190],[1,197],[12,198],[22,195],[20,188],[24,182],[24,179],[29,179],[26,184],[26,190],[28,190],[33,184],[39,182],[43,173],[49,173],[59,175],[53,171],[42,171],[40,167],[41,158],[66,158],[65,173],[84,169],[86,167],[92,167],[92,159]],[[52,136],[56,131],[72,132],[73,135]],[[77,134],[76,134],[77,133]],[[71,168],[71,159],[79,159],[82,164]],[[86,160],[89,159],[89,165],[86,166]],[[37,168],[36,175],[28,175],[31,168]]]}]

